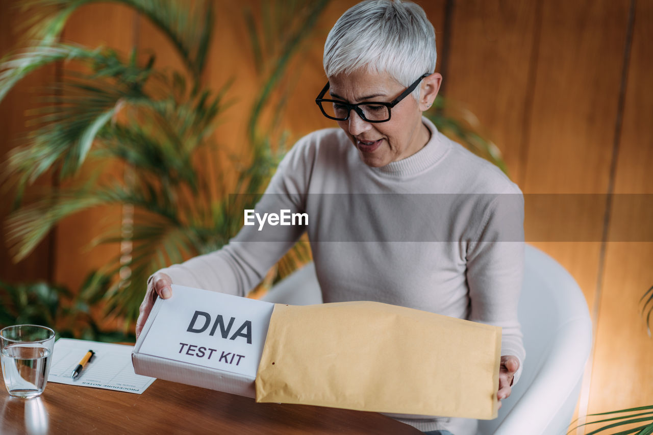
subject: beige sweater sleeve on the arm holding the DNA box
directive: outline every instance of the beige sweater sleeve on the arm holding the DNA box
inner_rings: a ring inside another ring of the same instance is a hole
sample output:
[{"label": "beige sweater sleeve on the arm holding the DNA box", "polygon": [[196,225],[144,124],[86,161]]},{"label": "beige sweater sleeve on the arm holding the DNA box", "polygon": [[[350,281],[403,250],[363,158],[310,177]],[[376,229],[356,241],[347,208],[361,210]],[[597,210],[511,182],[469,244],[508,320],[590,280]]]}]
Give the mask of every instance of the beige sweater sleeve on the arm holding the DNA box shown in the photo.
[{"label": "beige sweater sleeve on the arm holding the DNA box", "polygon": [[[308,183],[306,147],[293,147],[283,158],[254,210],[279,214],[281,210],[301,212],[301,195]],[[244,214],[244,210],[240,210]],[[193,257],[182,264],[159,270],[172,278],[172,283],[244,296],[306,231],[305,225],[261,225],[256,217],[229,241],[212,253]],[[151,278],[151,277],[150,277]],[[150,282],[151,280],[148,280]]]}]

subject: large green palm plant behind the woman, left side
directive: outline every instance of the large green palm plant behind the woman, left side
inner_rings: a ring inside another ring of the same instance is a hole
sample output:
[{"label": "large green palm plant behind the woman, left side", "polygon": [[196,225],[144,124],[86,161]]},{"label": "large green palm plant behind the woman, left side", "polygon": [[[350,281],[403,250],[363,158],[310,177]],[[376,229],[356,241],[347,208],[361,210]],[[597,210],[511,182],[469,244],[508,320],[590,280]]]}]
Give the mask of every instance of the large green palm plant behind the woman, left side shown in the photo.
[{"label": "large green palm plant behind the woman, left side", "polygon": [[[72,12],[93,1],[97,0],[29,2],[36,12],[29,34],[38,42],[0,65],[0,101],[18,80],[48,63],[76,61],[86,68],[65,71],[63,80],[47,89],[34,121],[37,127],[8,156],[4,182],[16,191],[17,210],[8,218],[7,228],[12,254],[19,261],[61,219],[97,206],[129,204],[133,208],[131,257],[125,263],[124,256],[116,256],[86,287],[87,297],[104,293],[100,283],[111,277],[112,285],[103,297],[106,310],[129,323],[138,314],[146,279],[153,271],[220,248],[236,231],[239,219],[233,204],[229,214],[229,180],[208,170],[208,159],[217,163],[228,158],[212,135],[227,106],[228,85],[212,91],[201,80],[213,29],[212,1],[198,0],[192,7],[184,1],[118,1],[135,8],[170,40],[185,67],[172,72],[157,69],[153,55],[139,61],[136,50],[124,58],[110,48],[59,42]],[[287,135],[262,126],[261,114],[326,5],[327,0],[299,1],[281,18],[264,17],[286,20],[277,26],[285,34],[277,50],[266,53],[276,60],[264,62],[261,54],[257,59],[264,92],[251,111],[249,155],[234,170],[236,188],[231,190],[255,195],[238,195],[240,207],[253,208],[256,194],[263,191],[283,153]],[[248,16],[251,21],[252,14]],[[129,177],[118,180],[101,171],[87,179],[80,176],[84,165],[115,161]],[[35,199],[25,198],[25,187],[50,170],[59,180],[74,182]],[[124,239],[118,226],[101,234],[97,242]],[[295,253],[291,263],[305,257],[305,250]],[[131,276],[120,280],[119,271],[125,266]]]}]

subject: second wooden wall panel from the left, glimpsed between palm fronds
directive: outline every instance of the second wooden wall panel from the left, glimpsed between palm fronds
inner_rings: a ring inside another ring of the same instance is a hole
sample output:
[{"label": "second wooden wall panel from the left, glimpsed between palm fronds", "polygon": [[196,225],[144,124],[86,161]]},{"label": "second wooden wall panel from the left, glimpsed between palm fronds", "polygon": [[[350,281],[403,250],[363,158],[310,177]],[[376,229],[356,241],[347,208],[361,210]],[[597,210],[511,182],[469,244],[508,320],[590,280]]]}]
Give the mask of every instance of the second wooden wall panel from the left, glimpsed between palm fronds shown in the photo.
[{"label": "second wooden wall panel from the left, glimpsed between palm fronds", "polygon": [[[135,12],[115,4],[99,3],[78,9],[70,18],[63,33],[70,40],[90,47],[109,46],[123,54],[129,54],[134,43]],[[70,67],[74,67],[70,65]],[[109,176],[123,176],[118,165],[106,167]],[[97,170],[93,164],[84,168],[85,177]],[[101,245],[92,248],[91,240],[121,221],[121,208],[103,207],[88,210],[62,221],[57,227],[56,275],[54,280],[77,291],[87,274],[100,268],[119,255],[119,245]]]}]

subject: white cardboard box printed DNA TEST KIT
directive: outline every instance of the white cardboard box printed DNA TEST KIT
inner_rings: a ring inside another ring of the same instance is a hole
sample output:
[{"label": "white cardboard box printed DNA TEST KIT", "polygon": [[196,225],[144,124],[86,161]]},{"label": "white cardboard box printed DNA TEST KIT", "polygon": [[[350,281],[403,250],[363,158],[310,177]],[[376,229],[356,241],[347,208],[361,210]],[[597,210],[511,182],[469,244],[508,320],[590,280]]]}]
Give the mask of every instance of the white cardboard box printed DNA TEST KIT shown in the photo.
[{"label": "white cardboard box printed DNA TEST KIT", "polygon": [[[174,303],[173,303],[174,301]],[[274,304],[172,285],[131,355],[136,374],[255,397]]]}]

